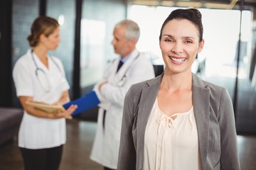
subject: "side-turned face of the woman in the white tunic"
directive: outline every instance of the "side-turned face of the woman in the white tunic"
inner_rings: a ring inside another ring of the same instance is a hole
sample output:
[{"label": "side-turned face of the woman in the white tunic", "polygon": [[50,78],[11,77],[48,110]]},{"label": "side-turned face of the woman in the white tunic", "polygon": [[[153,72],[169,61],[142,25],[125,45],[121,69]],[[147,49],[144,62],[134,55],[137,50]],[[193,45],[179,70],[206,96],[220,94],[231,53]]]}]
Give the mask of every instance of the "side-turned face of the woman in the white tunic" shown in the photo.
[{"label": "side-turned face of the woman in the white tunic", "polygon": [[48,37],[44,36],[43,43],[48,50],[56,50],[60,43],[60,27],[56,28]]}]

